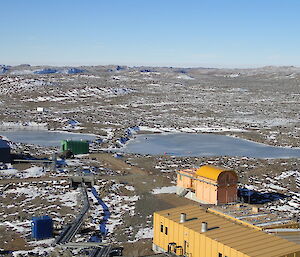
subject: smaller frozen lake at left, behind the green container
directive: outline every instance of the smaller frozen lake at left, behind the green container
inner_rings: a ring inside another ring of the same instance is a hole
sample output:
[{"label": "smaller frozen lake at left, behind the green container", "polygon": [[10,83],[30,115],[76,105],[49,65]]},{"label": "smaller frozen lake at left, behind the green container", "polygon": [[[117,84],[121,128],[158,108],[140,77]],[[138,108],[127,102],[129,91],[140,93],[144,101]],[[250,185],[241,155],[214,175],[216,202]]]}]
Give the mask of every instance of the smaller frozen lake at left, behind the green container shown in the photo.
[{"label": "smaller frozen lake at left, behind the green container", "polygon": [[89,140],[96,138],[93,135],[58,132],[48,130],[12,130],[0,131],[0,136],[7,137],[10,141],[16,143],[35,144],[40,146],[60,146],[61,140]]}]

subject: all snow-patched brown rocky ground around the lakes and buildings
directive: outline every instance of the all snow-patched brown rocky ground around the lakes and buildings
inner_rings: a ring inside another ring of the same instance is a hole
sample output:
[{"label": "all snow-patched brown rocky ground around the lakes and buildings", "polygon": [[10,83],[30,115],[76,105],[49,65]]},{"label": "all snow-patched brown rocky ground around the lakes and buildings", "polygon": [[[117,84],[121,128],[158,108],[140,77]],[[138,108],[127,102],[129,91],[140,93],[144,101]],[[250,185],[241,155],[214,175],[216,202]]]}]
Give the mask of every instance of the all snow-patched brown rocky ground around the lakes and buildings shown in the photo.
[{"label": "all snow-patched brown rocky ground around the lakes and buildings", "polygon": [[[151,253],[153,211],[187,203],[172,194],[175,171],[181,168],[208,163],[234,169],[240,188],[250,192],[252,203],[299,219],[299,158],[137,154],[115,158],[113,153],[102,153],[122,146],[134,133],[165,131],[219,133],[299,147],[299,103],[300,68],[296,67],[2,66],[1,129],[43,124],[39,129],[91,133],[97,140],[91,145],[93,154],[69,160],[57,172],[48,168],[41,171],[42,167],[34,165],[2,167],[2,185],[13,179],[18,182],[0,195],[0,234],[11,238],[0,248],[24,250],[15,252],[24,256],[30,251],[36,256],[44,254],[43,249],[51,253],[53,240],[41,244],[30,241],[30,217],[51,213],[59,233],[63,223],[75,217],[75,206],[81,204],[80,193],[70,189],[67,181],[69,175],[82,169],[96,176],[95,188],[113,210],[106,242],[124,246],[126,256]],[[55,149],[15,143],[13,151],[50,157]],[[32,184],[31,178],[41,181]],[[51,199],[46,197],[49,193]],[[41,202],[41,198],[47,201]],[[90,192],[89,198],[94,201]],[[26,208],[34,213],[24,213]],[[76,241],[87,241],[98,230],[101,215],[101,206],[93,204]],[[11,243],[14,240],[18,247]]]}]

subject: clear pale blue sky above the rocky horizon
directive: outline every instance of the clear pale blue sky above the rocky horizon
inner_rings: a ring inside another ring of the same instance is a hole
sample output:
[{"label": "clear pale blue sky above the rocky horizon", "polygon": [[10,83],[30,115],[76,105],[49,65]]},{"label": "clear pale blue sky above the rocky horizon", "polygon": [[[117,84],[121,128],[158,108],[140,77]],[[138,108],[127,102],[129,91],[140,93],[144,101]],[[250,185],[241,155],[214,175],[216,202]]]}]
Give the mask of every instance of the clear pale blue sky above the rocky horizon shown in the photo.
[{"label": "clear pale blue sky above the rocky horizon", "polygon": [[0,0],[0,63],[300,66],[298,0]]}]

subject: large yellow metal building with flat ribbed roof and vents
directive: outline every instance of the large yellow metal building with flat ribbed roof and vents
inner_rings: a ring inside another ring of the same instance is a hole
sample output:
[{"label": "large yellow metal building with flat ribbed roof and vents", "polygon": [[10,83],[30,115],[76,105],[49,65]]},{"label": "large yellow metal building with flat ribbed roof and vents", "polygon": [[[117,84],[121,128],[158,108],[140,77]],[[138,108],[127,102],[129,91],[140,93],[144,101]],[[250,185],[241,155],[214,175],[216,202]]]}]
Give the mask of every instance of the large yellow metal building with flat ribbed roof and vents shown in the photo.
[{"label": "large yellow metal building with flat ribbed roof and vents", "polygon": [[153,250],[187,257],[300,257],[300,245],[195,205],[154,213]]}]

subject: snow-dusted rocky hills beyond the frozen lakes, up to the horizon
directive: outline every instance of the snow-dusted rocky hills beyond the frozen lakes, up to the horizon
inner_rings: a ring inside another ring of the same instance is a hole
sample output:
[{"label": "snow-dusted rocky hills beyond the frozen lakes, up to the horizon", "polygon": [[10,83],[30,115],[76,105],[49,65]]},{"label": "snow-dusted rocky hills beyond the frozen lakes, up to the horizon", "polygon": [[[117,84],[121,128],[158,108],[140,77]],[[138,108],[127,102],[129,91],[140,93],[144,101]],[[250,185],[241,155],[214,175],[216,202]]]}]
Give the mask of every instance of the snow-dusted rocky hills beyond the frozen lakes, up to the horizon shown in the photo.
[{"label": "snow-dusted rocky hills beyond the frozen lakes, up to the horizon", "polygon": [[[80,131],[100,135],[122,134],[136,125],[228,127],[246,130],[238,136],[280,146],[297,146],[299,139],[299,68],[7,69],[0,77],[1,121],[27,122],[30,117],[56,129],[72,119]],[[37,112],[38,107],[46,111]]]}]

